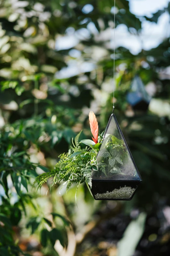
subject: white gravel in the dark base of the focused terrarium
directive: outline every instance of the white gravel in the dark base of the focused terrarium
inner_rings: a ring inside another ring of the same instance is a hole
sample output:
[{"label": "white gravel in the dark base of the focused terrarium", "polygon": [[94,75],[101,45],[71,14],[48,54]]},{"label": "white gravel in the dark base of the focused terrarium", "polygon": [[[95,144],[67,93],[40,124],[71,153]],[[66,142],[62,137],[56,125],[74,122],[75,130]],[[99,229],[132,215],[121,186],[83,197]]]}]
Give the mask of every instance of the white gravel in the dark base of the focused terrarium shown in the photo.
[{"label": "white gravel in the dark base of the focused terrarium", "polygon": [[95,195],[96,199],[130,199],[130,197],[133,195],[133,193],[135,192],[135,188],[131,188],[131,187],[120,187],[120,189],[115,188],[113,191],[111,192],[106,192],[106,193],[102,193],[99,194],[97,193]]}]

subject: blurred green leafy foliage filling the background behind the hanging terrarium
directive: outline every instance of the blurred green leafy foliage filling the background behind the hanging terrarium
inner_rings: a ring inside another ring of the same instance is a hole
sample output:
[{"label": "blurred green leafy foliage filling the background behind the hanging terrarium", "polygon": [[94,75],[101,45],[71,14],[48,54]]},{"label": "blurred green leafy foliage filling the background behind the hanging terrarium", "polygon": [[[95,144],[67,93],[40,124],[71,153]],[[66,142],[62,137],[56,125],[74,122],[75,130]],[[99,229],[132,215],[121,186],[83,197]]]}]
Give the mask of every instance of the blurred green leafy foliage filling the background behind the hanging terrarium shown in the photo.
[{"label": "blurred green leafy foliage filling the background behind the hanging terrarium", "polygon": [[[89,13],[83,11],[88,3]],[[116,49],[115,114],[143,179],[133,200],[96,202],[80,184],[77,208],[76,187],[67,195],[57,186],[47,196],[48,185],[41,193],[31,190],[35,177],[54,167],[82,128],[81,139],[91,137],[90,110],[101,131],[111,114],[113,49],[105,35],[113,33],[113,1],[88,3],[0,2],[2,256],[169,252],[169,37],[137,55]],[[129,2],[117,0],[116,7],[115,25],[140,34],[141,18],[129,11]],[[143,18],[157,23],[163,13],[170,13],[170,5]],[[68,46],[68,37],[60,48],[58,40],[68,35],[76,36],[76,43]],[[146,112],[136,113],[126,101],[135,75],[154,86]]]}]

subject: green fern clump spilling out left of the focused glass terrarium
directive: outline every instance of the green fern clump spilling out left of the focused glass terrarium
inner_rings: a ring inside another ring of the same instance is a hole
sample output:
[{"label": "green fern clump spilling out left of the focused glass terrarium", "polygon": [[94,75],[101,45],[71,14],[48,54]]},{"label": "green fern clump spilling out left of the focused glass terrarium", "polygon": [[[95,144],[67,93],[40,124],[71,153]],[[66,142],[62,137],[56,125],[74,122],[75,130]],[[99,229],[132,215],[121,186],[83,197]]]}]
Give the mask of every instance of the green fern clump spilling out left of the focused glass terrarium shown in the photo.
[{"label": "green fern clump spilling out left of the focused glass terrarium", "polygon": [[81,146],[79,145],[80,134],[81,132],[76,136],[75,144],[72,140],[73,145],[70,147],[68,153],[63,153],[59,156],[60,159],[56,163],[54,170],[49,173],[43,173],[35,179],[34,184],[37,183],[38,188],[41,188],[50,177],[53,177],[53,182],[49,187],[50,190],[53,185],[56,185],[56,183],[59,183],[60,181],[64,181],[63,186],[66,185],[66,191],[73,183],[77,183],[79,186],[83,181],[86,181],[90,188],[92,187],[91,169],[92,166],[97,169],[97,150],[91,149],[88,146],[81,149]]}]

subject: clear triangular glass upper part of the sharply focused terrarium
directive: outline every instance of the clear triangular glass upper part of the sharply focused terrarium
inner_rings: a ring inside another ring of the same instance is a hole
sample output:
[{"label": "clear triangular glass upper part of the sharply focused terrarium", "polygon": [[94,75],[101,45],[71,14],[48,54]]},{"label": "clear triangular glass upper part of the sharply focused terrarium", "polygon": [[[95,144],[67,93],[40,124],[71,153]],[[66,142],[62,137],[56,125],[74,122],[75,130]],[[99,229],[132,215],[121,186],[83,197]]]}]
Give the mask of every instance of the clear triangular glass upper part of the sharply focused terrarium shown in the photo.
[{"label": "clear triangular glass upper part of the sharply focused terrarium", "polygon": [[93,170],[93,180],[141,180],[114,114],[111,115],[106,127],[97,162],[98,170]]}]

